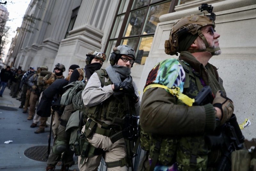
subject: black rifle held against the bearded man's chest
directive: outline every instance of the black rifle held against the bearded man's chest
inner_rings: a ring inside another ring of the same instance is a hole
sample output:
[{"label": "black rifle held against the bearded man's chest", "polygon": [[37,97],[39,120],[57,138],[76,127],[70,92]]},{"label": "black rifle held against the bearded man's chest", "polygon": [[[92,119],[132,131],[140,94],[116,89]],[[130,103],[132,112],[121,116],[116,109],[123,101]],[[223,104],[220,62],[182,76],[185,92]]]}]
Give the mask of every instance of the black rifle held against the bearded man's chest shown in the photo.
[{"label": "black rifle held against the bearded man's chest", "polygon": [[[214,96],[209,86],[204,87],[196,96],[193,105],[205,105],[212,103]],[[220,150],[221,155],[214,163],[208,163],[211,167],[218,165],[218,171],[231,170],[231,153],[243,148],[244,136],[236,121],[236,115],[232,114],[230,119],[223,125],[217,127],[210,135],[205,136],[205,143],[211,148],[211,151]],[[211,161],[211,156],[209,156]]]}]

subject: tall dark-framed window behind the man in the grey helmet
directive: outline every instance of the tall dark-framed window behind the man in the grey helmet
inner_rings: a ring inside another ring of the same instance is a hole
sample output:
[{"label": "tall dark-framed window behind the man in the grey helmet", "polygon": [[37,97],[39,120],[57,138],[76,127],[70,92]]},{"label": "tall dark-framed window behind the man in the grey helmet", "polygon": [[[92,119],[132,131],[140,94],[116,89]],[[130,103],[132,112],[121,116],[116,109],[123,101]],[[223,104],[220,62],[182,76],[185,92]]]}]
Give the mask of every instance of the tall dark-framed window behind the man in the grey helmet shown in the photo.
[{"label": "tall dark-framed window behind the man in the grey helmet", "polygon": [[145,64],[151,48],[159,17],[174,11],[178,0],[120,0],[112,31],[105,48],[110,56],[120,44],[132,46],[136,51],[136,63]]}]

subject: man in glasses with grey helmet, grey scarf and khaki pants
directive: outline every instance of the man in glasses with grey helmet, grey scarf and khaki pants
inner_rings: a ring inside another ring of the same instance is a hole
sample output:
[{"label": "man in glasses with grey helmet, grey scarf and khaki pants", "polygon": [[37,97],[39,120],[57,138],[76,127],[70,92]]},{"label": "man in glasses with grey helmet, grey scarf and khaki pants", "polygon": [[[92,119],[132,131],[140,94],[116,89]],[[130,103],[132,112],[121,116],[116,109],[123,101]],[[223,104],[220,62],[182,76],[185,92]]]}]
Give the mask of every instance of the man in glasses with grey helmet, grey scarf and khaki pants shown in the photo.
[{"label": "man in glasses with grey helmet, grey scarf and khaki pants", "polygon": [[138,89],[130,75],[134,61],[132,47],[115,47],[111,65],[94,72],[82,92],[86,109],[82,129],[84,144],[80,144],[78,157],[80,170],[97,170],[101,156],[108,170],[126,171],[128,164],[131,166],[132,156],[128,155],[127,137],[123,133],[125,116],[138,116],[140,108]]}]

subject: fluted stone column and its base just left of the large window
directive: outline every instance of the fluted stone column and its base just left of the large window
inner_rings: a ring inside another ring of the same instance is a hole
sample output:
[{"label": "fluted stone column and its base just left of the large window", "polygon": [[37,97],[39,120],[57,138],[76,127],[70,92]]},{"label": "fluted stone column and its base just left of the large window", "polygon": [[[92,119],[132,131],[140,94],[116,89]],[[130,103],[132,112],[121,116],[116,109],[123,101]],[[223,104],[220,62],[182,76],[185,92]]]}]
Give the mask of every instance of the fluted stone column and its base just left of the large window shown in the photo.
[{"label": "fluted stone column and its base just left of the large window", "polygon": [[54,63],[62,60],[67,67],[71,64],[84,67],[85,54],[102,50],[102,37],[109,33],[117,5],[117,0],[83,0],[74,28],[61,41]]}]

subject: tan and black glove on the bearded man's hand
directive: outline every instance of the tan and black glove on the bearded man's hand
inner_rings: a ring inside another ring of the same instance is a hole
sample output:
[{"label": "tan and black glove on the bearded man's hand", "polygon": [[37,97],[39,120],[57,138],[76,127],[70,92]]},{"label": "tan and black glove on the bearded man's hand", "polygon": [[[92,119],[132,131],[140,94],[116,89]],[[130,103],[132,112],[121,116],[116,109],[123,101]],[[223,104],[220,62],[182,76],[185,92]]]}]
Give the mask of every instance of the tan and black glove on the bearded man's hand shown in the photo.
[{"label": "tan and black glove on the bearded man's hand", "polygon": [[212,102],[214,107],[218,107],[221,110],[221,119],[220,125],[223,125],[227,120],[229,120],[230,116],[233,114],[234,105],[233,101],[228,97],[225,97],[222,91],[218,91],[216,96]]}]

